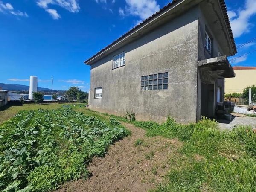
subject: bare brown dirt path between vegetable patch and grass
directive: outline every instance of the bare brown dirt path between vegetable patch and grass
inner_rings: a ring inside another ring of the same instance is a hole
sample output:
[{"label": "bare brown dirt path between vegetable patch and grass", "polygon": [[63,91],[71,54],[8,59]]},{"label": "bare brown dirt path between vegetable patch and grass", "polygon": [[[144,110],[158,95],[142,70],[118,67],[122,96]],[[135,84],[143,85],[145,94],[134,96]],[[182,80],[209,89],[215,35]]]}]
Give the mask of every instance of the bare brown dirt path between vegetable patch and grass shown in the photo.
[{"label": "bare brown dirt path between vegetable patch and grass", "polygon": [[[111,145],[104,158],[95,158],[88,166],[92,177],[66,183],[59,192],[144,192],[163,180],[169,158],[182,145],[178,140],[146,137],[145,130],[122,123],[132,135]],[[135,145],[140,139],[140,145]]]}]

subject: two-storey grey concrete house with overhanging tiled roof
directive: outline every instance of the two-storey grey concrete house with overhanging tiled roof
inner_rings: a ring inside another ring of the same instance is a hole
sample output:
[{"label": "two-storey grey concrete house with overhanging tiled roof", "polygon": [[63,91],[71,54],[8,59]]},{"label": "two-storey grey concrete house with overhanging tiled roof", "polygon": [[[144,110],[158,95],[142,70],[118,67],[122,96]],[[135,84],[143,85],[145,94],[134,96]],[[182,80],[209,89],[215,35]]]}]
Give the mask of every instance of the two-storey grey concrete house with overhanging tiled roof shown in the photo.
[{"label": "two-storey grey concrete house with overhanging tiled roof", "polygon": [[157,122],[213,117],[236,52],[224,0],[174,0],[84,62],[90,108]]}]

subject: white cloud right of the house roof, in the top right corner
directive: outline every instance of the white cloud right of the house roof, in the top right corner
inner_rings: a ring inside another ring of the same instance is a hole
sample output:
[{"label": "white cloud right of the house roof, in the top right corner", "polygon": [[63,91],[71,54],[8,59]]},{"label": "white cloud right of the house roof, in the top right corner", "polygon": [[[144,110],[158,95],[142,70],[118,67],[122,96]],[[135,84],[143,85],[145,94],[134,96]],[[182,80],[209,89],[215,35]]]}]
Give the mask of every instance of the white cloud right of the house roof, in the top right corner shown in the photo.
[{"label": "white cloud right of the house roof, in the top right corner", "polygon": [[256,0],[246,0],[244,8],[239,8],[237,14],[235,11],[229,11],[230,24],[235,38],[250,32],[254,26],[250,23],[250,18],[256,14]]}]

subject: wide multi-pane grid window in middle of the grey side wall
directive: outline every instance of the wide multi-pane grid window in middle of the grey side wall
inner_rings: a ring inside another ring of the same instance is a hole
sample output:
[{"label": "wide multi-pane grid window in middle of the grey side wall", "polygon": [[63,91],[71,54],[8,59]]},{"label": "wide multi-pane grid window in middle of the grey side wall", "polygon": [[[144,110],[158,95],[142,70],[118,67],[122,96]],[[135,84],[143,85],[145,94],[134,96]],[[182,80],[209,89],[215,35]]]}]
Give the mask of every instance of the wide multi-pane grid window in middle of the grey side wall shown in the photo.
[{"label": "wide multi-pane grid window in middle of the grey side wall", "polygon": [[141,77],[141,90],[168,89],[168,72]]}]

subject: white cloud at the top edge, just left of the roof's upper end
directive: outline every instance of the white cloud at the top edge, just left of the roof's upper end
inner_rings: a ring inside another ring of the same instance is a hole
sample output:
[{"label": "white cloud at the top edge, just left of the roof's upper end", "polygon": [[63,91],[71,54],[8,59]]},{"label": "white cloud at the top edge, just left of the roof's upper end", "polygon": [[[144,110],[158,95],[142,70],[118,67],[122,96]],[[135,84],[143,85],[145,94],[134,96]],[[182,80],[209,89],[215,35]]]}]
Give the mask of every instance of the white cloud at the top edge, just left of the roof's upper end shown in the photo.
[{"label": "white cloud at the top edge, just left of the roof's upper end", "polygon": [[[145,20],[155,12],[159,11],[160,5],[156,0],[125,0],[125,12],[129,15],[140,17],[140,20]],[[119,8],[119,14],[124,16],[123,9]]]}]

